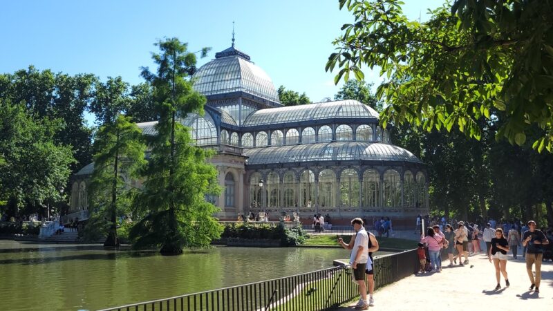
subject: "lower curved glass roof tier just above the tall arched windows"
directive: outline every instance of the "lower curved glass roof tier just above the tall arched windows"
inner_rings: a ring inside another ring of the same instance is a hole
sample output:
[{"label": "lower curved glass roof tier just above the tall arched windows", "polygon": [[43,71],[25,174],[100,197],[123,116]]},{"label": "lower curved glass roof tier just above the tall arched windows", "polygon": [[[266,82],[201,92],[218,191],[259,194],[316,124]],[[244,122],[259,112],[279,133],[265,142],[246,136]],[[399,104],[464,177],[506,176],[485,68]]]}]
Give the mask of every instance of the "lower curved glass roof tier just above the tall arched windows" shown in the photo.
[{"label": "lower curved glass roof tier just above the tall arched windows", "polygon": [[245,149],[248,165],[312,161],[407,161],[422,163],[413,153],[392,144],[371,142],[328,142],[294,146]]}]

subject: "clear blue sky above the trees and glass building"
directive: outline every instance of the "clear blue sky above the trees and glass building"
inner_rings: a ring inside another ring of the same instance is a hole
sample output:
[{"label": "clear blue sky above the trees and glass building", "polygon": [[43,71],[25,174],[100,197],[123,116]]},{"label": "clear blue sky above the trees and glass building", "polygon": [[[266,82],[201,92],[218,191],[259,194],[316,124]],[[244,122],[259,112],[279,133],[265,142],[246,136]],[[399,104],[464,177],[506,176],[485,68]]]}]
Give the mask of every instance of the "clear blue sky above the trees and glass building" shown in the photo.
[{"label": "clear blue sky above the trees and glass building", "polygon": [[[427,8],[442,0],[404,0],[410,19],[426,19]],[[212,51],[199,64],[231,45],[235,21],[236,48],[272,77],[276,88],[306,92],[312,102],[339,90],[324,66],[341,26],[353,21],[337,0],[234,1],[3,1],[0,9],[0,73],[30,64],[68,74],[122,76],[142,82],[140,66],[150,66],[153,43],[178,37],[192,51]],[[337,70],[335,70],[337,71]],[[379,83],[378,73],[365,71]]]}]

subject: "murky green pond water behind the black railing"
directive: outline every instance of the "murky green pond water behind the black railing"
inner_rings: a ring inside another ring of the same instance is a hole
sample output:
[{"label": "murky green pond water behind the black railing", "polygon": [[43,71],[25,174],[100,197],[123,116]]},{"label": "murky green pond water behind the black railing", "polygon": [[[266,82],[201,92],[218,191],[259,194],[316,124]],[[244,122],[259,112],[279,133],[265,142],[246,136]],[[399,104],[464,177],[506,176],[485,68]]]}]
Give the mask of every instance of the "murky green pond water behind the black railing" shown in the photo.
[{"label": "murky green pond water behind the black railing", "polygon": [[0,240],[0,310],[96,310],[324,269],[344,249],[213,247],[180,256]]}]

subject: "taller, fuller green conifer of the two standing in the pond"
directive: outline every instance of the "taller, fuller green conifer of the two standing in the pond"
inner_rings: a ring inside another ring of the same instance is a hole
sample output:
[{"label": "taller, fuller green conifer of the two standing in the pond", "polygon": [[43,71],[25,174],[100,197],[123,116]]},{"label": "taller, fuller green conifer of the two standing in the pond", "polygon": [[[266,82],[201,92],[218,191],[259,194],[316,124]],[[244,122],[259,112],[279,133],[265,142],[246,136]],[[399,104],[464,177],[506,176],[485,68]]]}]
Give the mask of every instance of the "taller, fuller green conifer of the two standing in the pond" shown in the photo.
[{"label": "taller, fuller green conifer of the two standing in the pond", "polygon": [[221,226],[213,216],[217,209],[205,200],[205,194],[219,189],[215,168],[205,162],[205,151],[191,145],[187,129],[178,122],[187,113],[203,114],[206,99],[189,81],[196,55],[176,38],[158,41],[156,46],[161,51],[153,54],[157,73],[144,68],[142,75],[154,88],[160,119],[158,133],[149,141],[151,157],[136,201],[145,213],[129,236],[134,247],[160,247],[162,254],[181,254],[182,247],[207,246],[220,236]]}]

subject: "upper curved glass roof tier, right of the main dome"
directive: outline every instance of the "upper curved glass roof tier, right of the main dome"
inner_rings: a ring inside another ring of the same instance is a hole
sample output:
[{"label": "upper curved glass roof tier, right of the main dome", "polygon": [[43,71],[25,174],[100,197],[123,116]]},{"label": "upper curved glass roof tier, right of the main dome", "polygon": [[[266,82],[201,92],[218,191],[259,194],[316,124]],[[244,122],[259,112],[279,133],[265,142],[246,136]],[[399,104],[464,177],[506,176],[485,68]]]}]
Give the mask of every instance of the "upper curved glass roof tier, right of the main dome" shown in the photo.
[{"label": "upper curved glass roof tier, right of the main dome", "polygon": [[335,102],[261,109],[247,117],[243,125],[259,126],[335,118],[378,119],[378,113],[370,106],[357,102],[357,100],[338,100]]}]

